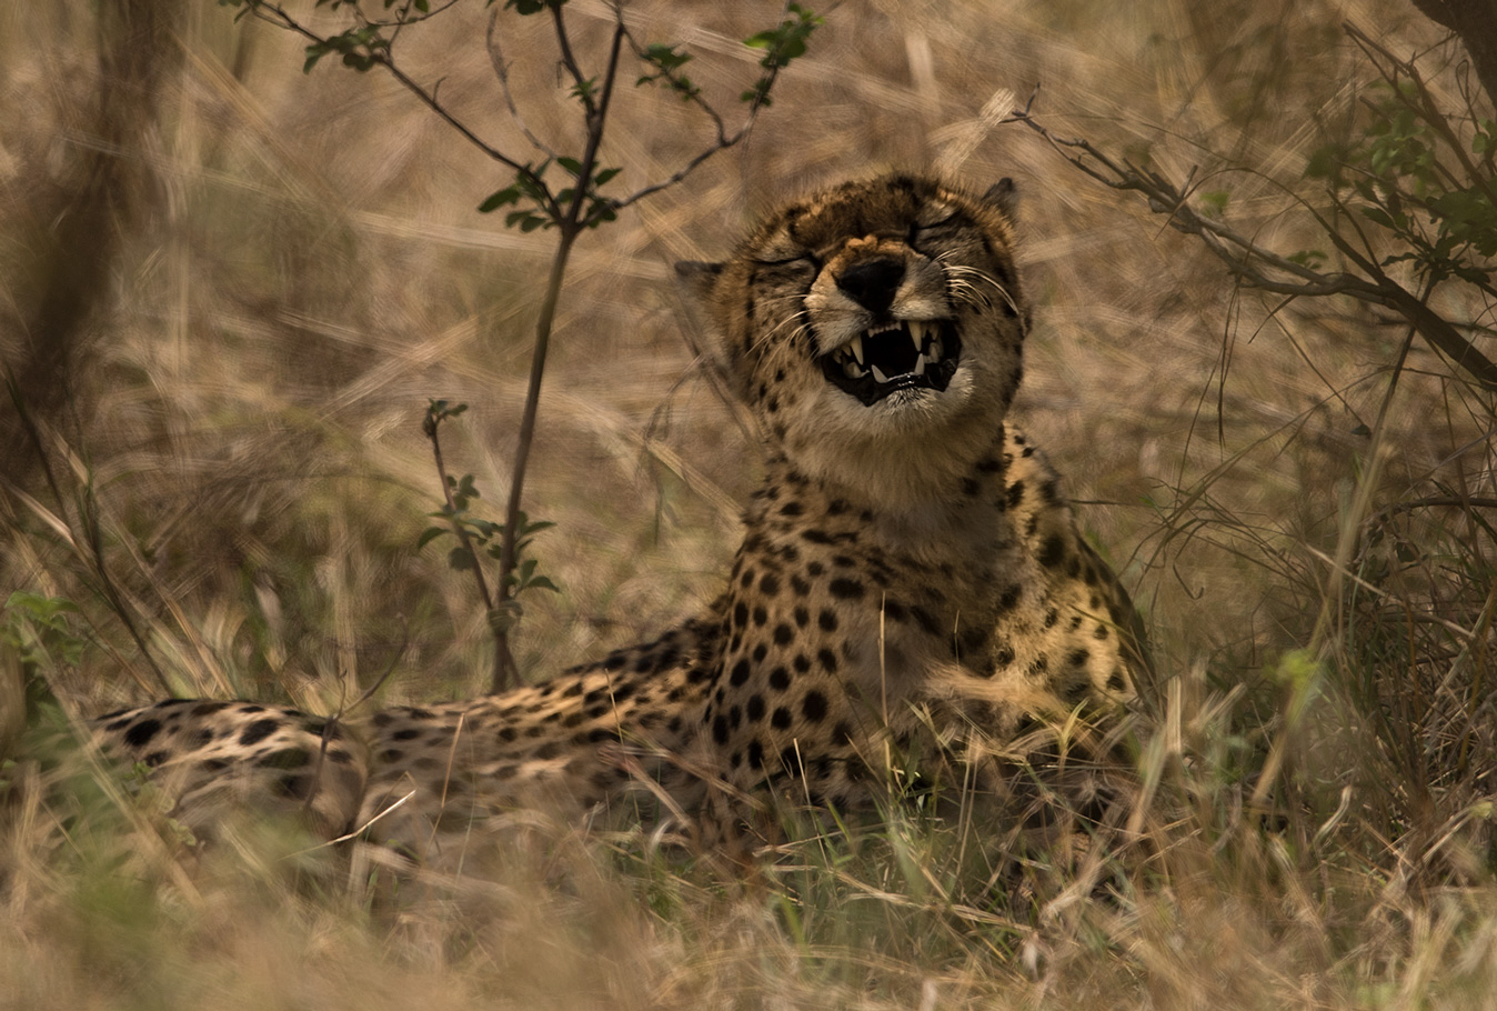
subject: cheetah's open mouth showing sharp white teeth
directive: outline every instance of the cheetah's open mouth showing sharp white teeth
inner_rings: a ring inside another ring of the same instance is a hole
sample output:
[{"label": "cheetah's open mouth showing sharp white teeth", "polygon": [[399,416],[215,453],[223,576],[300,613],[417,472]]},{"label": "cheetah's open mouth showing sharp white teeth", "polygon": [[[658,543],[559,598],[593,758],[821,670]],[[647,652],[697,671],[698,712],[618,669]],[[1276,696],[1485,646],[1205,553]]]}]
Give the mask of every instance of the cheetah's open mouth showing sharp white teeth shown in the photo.
[{"label": "cheetah's open mouth showing sharp white teeth", "polygon": [[945,391],[960,358],[952,321],[903,319],[871,327],[822,355],[822,373],[864,404],[876,404],[898,389]]}]

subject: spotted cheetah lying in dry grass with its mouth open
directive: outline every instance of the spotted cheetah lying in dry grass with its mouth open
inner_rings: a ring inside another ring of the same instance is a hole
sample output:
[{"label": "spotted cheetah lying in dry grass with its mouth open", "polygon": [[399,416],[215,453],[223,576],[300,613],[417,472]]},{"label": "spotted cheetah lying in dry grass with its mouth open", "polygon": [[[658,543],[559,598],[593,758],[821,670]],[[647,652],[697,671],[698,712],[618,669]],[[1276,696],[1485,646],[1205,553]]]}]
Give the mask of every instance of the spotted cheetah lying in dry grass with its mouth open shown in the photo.
[{"label": "spotted cheetah lying in dry grass with its mouth open", "polygon": [[281,804],[433,858],[539,806],[719,839],[763,798],[868,809],[922,734],[961,761],[1126,711],[1138,617],[1009,416],[1030,328],[1012,214],[1007,180],[891,174],[678,264],[765,472],[726,589],[678,628],[473,701],[328,719],[171,699],[97,738],[189,824]]}]

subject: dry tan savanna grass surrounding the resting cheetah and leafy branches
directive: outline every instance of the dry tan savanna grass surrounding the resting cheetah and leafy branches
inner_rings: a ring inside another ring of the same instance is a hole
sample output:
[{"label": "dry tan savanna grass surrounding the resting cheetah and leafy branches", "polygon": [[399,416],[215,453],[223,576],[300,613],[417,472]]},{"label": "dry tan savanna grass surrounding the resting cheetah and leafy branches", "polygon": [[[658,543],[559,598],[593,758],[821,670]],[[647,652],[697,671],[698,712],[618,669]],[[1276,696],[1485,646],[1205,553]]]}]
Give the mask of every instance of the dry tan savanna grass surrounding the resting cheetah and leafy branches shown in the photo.
[{"label": "dry tan savanna grass surrounding the resting cheetah and leafy branches", "polygon": [[[1376,76],[1343,22],[1422,54],[1451,108],[1472,85],[1458,46],[1404,0],[816,9],[751,138],[576,250],[527,479],[560,592],[524,598],[516,659],[545,677],[723,577],[754,452],[693,355],[672,261],[849,174],[1009,175],[1037,316],[1016,410],[1154,638],[1151,857],[991,882],[948,827],[895,810],[747,884],[624,833],[371,899],[272,828],[204,852],[129,776],[34,789],[24,741],[58,713],[165,690],[326,710],[386,673],[391,701],[484,690],[472,581],[416,550],[439,496],[421,416],[470,404],[448,466],[501,502],[554,235],[478,214],[509,177],[389,75],[337,57],[302,75],[299,40],[207,0],[15,3],[0,352],[24,409],[0,406],[0,592],[36,596],[0,614],[0,1008],[1491,1007],[1491,389],[1424,340],[1401,358],[1386,309],[1234,283],[1001,123],[1037,87],[1057,133],[1193,180],[1256,241],[1326,250],[1307,159]],[[566,12],[596,66],[611,7]],[[458,4],[397,55],[524,151],[490,13]],[[626,13],[696,54],[731,123],[756,75],[740,40],[780,15]],[[527,127],[575,142],[545,22],[500,12],[497,39]],[[624,84],[603,159],[632,190],[711,126]],[[1490,346],[1463,291],[1437,309]]]}]

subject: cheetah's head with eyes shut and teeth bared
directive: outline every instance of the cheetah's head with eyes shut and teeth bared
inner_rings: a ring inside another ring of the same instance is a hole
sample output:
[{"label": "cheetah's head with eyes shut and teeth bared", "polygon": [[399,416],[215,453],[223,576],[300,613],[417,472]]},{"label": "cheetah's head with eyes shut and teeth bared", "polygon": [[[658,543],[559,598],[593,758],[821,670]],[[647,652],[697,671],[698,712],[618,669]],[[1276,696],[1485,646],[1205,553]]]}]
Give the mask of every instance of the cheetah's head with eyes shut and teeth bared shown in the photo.
[{"label": "cheetah's head with eyes shut and teeth bared", "polygon": [[985,452],[1022,374],[1012,184],[885,175],[680,264],[735,394],[798,466],[934,490]]}]

